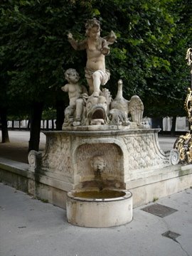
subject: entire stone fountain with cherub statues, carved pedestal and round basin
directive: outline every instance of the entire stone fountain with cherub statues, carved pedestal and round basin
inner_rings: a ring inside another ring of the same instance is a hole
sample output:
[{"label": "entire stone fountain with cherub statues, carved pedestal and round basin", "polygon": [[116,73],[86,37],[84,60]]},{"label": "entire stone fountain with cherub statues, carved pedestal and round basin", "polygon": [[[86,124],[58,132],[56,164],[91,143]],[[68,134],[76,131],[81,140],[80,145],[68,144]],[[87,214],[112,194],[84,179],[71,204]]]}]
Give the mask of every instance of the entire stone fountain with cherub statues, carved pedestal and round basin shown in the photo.
[{"label": "entire stone fountain with cherub statues, carved pedestal and round basin", "polygon": [[65,71],[68,83],[61,89],[68,92],[70,104],[65,109],[63,131],[45,132],[45,151],[31,151],[28,160],[38,182],[56,187],[58,194],[65,191],[69,223],[111,227],[132,220],[132,193],[136,205],[144,203],[142,187],[149,185],[151,177],[158,178],[162,170],[177,164],[178,155],[177,151],[165,154],[159,148],[159,129],[144,124],[139,96],[124,99],[122,80],[117,82],[114,100],[109,90],[101,90],[110,79],[105,55],[116,37],[111,32],[101,38],[96,19],[87,21],[85,28],[84,41],[75,41],[71,33],[68,40],[75,50],[87,51],[89,92],[80,85],[76,70]]}]

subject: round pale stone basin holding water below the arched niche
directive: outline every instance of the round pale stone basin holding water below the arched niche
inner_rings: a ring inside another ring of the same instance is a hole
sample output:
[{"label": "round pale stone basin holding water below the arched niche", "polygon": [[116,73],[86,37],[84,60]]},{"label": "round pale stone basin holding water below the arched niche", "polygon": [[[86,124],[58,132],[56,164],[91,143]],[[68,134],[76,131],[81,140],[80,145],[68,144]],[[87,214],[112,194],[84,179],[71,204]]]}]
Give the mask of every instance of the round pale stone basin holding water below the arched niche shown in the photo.
[{"label": "round pale stone basin holding water below the arched niche", "polygon": [[70,191],[68,223],[105,228],[132,221],[132,193],[127,190]]}]

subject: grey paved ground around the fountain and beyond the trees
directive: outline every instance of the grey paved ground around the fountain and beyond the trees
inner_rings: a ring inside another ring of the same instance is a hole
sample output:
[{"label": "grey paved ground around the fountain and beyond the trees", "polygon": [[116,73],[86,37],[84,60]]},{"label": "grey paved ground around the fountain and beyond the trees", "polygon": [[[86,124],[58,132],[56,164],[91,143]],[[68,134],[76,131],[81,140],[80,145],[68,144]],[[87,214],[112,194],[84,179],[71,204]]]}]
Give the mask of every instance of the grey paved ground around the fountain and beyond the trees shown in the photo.
[{"label": "grey paved ground around the fountain and beyond the trees", "polygon": [[[13,131],[10,139],[0,156],[26,156],[29,133]],[[159,137],[161,149],[171,149],[175,139]],[[42,134],[41,149],[45,142]],[[0,255],[192,256],[191,188],[134,208],[133,216],[114,228],[80,228],[62,208],[0,183]]]}]

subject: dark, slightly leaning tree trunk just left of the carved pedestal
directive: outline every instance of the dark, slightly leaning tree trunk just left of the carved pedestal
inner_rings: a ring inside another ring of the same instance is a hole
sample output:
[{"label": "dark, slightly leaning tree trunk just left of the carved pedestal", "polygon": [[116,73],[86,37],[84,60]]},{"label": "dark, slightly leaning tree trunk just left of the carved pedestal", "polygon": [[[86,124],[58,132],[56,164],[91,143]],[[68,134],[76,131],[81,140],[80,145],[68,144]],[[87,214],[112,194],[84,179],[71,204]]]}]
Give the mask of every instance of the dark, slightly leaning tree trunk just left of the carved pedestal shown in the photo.
[{"label": "dark, slightly leaning tree trunk just left of the carved pedestal", "polygon": [[43,112],[43,102],[34,102],[31,110],[31,129],[28,151],[38,151],[41,131],[41,116]]}]

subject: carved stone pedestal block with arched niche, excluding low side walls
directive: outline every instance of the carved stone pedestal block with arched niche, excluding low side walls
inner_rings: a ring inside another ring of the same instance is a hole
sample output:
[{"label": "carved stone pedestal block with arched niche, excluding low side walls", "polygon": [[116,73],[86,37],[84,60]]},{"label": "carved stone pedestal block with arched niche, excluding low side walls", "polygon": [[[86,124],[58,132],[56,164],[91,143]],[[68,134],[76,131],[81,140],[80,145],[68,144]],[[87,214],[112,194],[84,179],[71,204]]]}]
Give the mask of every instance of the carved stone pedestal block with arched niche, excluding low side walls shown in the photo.
[{"label": "carved stone pedestal block with arched niche, excluding low side walls", "polygon": [[95,155],[105,159],[102,179],[114,181],[116,188],[128,188],[130,181],[171,166],[169,154],[159,147],[159,129],[81,128],[45,132],[46,149],[38,156],[36,172],[62,181],[65,191],[94,180],[90,159]]}]

